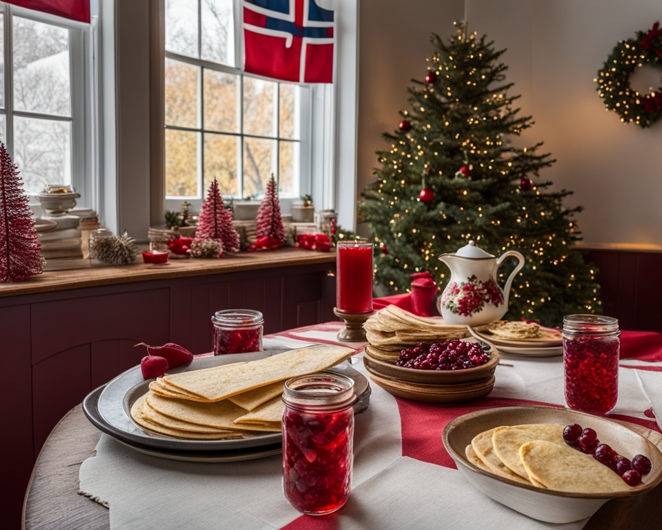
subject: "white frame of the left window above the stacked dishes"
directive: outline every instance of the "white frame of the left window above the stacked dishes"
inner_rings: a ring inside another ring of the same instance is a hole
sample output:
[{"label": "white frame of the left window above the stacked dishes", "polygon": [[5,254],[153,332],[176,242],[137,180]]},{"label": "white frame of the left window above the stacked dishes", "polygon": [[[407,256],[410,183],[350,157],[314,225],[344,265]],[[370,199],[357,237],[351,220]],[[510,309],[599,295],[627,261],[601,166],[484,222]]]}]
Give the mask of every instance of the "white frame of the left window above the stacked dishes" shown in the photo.
[{"label": "white frame of the left window above the stacked dishes", "polygon": [[[14,116],[44,116],[35,112],[17,111],[13,105],[13,61],[12,61],[12,16],[22,17],[52,26],[66,28],[70,35],[70,100],[71,117],[71,184],[81,194],[79,206],[96,208],[98,204],[99,149],[97,128],[98,85],[95,63],[97,50],[97,17],[92,17],[90,24],[80,23],[52,14],[43,13],[12,4],[0,2],[4,14],[3,27],[3,63],[6,115],[6,148],[14,156]],[[48,117],[46,117],[48,119]],[[20,168],[19,168],[20,170]],[[61,184],[53,182],[51,184]],[[30,198],[35,215],[41,215],[41,208],[36,199]]]}]

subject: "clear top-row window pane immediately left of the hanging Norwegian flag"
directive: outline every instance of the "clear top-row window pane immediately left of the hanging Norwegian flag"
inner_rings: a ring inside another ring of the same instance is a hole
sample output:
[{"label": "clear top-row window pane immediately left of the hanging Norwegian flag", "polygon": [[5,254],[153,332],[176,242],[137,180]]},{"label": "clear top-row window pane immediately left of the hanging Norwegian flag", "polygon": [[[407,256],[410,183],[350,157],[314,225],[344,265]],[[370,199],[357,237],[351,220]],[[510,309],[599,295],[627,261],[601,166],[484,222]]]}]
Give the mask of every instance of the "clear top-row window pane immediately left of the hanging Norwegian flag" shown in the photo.
[{"label": "clear top-row window pane immediately left of the hanging Norwegian flag", "polygon": [[232,0],[202,0],[202,58],[234,66]]}]

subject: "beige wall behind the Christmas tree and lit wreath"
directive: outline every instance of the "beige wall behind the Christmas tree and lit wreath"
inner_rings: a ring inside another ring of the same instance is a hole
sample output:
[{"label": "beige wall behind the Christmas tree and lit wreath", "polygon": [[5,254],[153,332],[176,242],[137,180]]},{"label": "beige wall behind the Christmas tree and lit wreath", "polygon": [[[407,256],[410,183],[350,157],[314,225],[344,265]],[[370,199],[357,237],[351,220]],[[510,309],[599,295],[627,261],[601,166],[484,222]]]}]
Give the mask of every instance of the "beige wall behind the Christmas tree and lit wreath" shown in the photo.
[{"label": "beige wall behind the Christmas tree and lit wreath", "polygon": [[[662,121],[643,129],[607,112],[593,79],[620,39],[662,19],[660,0],[361,1],[359,54],[359,190],[374,178],[374,152],[388,147],[410,79],[421,79],[432,52],[430,32],[454,33],[465,16],[486,34],[536,124],[523,144],[544,142],[556,159],[541,178],[573,190],[569,206],[585,244],[662,245]],[[388,6],[388,7],[387,7]],[[662,72],[642,72],[648,84]],[[633,78],[633,83],[635,79]],[[641,81],[643,83],[643,81]],[[645,86],[648,86],[645,84]],[[363,227],[365,230],[365,227]]]}]

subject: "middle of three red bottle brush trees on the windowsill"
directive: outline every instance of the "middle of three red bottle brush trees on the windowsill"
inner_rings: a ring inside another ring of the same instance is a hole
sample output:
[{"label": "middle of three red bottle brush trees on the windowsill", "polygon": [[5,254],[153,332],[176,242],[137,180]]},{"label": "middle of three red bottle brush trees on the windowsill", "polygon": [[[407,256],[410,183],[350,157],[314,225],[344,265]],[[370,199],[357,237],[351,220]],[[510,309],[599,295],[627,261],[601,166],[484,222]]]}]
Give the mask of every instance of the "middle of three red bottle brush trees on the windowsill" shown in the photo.
[{"label": "middle of three red bottle brush trees on the windowsill", "polygon": [[220,244],[217,257],[226,252],[239,252],[239,234],[232,226],[232,210],[225,208],[217,179],[209,186],[207,198],[200,208],[200,215],[195,229],[194,246],[211,240]]}]

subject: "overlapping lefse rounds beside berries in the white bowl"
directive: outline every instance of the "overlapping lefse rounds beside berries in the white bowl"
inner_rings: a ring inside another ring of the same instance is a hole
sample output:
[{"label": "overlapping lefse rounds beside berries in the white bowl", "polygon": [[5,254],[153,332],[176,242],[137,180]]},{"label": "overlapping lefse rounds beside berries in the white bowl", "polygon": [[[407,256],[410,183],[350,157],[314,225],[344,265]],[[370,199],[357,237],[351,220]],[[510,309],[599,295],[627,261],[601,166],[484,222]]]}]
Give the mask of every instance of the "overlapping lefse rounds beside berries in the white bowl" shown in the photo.
[{"label": "overlapping lefse rounds beside berries in the white bowl", "polygon": [[465,453],[484,471],[542,489],[572,493],[628,489],[612,469],[565,444],[562,425],[498,426],[476,435]]}]

